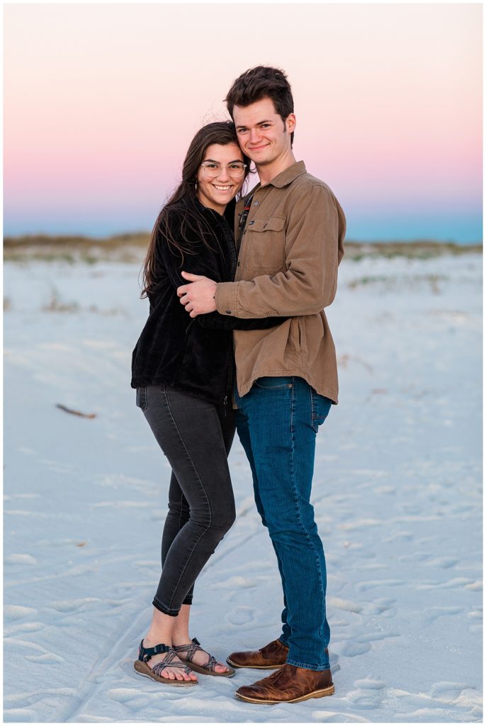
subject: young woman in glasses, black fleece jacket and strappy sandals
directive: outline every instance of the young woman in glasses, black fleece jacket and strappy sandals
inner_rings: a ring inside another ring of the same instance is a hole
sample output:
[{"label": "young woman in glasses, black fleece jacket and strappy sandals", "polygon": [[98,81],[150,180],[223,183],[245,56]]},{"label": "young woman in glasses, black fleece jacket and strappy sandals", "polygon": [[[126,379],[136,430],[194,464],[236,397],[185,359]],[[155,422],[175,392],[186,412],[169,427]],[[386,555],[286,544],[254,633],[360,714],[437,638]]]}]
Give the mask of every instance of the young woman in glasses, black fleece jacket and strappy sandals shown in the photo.
[{"label": "young woman in glasses, black fleece jacket and strappy sandals", "polygon": [[283,318],[243,320],[217,312],[191,318],[176,290],[186,282],[182,269],[217,282],[234,279],[234,197],[249,167],[233,123],[200,129],[181,184],[157,217],[144,264],[149,318],[133,351],[131,386],[172,476],[162,575],[134,667],[170,685],[196,685],[194,672],[234,675],[191,640],[189,612],[194,582],[235,518],[227,462],[235,431],[231,330],[274,327]]}]

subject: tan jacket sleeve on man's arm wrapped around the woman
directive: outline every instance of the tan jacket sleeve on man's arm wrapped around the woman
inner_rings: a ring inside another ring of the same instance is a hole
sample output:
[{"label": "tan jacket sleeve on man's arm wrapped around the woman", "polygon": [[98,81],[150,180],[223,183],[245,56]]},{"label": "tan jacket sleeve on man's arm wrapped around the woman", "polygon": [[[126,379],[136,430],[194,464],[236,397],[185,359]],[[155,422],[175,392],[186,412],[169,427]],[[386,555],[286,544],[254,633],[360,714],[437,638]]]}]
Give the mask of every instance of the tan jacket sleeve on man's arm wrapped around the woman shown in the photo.
[{"label": "tan jacket sleeve on man's arm wrapped around the woman", "polygon": [[219,283],[216,308],[224,315],[247,319],[321,311],[336,294],[345,229],[337,200],[314,184],[292,205],[285,236],[286,271]]}]

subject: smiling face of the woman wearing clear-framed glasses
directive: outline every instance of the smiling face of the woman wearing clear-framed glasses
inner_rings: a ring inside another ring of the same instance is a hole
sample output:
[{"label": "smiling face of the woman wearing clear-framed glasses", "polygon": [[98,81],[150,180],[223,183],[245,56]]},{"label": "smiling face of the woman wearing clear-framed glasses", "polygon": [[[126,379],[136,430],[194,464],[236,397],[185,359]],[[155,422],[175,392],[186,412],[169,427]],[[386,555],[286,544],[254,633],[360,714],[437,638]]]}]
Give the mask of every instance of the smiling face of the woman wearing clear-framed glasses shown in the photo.
[{"label": "smiling face of the woman wearing clear-framed glasses", "polygon": [[[238,144],[211,144],[197,171],[199,202],[223,214],[226,205],[243,186],[244,174],[239,165],[243,155]],[[217,173],[217,176],[215,174]]]}]

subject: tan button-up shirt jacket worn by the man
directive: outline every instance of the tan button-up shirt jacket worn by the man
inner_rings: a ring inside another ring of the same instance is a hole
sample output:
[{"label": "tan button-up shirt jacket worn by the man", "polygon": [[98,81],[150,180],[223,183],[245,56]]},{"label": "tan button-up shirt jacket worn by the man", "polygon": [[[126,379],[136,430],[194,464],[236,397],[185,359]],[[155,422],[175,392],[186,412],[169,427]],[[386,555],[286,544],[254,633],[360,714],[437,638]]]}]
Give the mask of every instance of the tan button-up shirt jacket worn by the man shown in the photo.
[{"label": "tan button-up shirt jacket worn by the man", "polygon": [[[236,239],[244,200],[236,205]],[[218,311],[240,318],[290,316],[269,330],[235,330],[238,393],[261,376],[295,375],[337,403],[337,362],[324,308],[344,254],[344,212],[324,181],[289,166],[255,187],[235,282],[216,287]]]}]

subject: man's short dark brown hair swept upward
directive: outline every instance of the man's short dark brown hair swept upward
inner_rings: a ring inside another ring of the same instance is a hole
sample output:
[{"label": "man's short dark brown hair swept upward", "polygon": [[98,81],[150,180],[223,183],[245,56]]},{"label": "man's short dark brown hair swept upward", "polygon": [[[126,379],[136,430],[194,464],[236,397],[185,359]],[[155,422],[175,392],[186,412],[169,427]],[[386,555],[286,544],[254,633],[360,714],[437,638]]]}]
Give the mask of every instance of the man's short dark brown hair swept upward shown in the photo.
[{"label": "man's short dark brown hair swept upward", "polygon": [[[269,65],[258,65],[256,68],[245,70],[241,76],[233,81],[231,89],[226,96],[226,105],[231,118],[235,106],[250,106],[263,98],[271,98],[276,113],[284,121],[289,113],[294,113],[294,99],[287,76],[280,68],[271,68]],[[290,143],[294,141],[294,132],[290,135]]]}]

